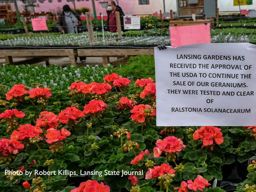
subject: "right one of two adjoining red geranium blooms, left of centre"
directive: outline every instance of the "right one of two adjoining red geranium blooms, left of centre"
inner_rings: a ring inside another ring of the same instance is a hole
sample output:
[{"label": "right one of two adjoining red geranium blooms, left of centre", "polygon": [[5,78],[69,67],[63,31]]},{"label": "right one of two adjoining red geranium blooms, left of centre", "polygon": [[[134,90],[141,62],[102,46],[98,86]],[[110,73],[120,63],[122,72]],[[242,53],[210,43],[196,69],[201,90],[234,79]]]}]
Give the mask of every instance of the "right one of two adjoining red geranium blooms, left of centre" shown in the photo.
[{"label": "right one of two adjoining red geranium blooms, left of centre", "polygon": [[68,124],[68,121],[75,121],[80,117],[85,116],[85,114],[77,108],[67,107],[66,110],[63,110],[59,113],[59,122]]}]

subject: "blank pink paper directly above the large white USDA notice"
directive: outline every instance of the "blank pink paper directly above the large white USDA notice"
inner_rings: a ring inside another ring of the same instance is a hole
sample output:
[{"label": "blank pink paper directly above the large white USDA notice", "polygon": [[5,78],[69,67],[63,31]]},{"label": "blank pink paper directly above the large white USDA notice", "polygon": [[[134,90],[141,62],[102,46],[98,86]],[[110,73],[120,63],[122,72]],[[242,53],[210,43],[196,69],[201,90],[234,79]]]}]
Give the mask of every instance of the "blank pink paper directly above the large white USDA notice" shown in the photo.
[{"label": "blank pink paper directly above the large white USDA notice", "polygon": [[187,44],[210,43],[210,25],[189,25],[170,27],[171,46],[182,46]]}]

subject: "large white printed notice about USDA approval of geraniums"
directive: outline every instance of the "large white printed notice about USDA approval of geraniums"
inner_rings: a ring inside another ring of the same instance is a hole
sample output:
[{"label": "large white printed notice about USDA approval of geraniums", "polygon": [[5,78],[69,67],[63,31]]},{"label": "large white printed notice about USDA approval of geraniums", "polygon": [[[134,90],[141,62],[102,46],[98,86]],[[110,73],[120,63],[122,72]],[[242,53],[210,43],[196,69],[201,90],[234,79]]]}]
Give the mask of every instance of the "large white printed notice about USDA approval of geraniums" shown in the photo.
[{"label": "large white printed notice about USDA approval of geraniums", "polygon": [[255,126],[256,45],[154,48],[157,126]]}]

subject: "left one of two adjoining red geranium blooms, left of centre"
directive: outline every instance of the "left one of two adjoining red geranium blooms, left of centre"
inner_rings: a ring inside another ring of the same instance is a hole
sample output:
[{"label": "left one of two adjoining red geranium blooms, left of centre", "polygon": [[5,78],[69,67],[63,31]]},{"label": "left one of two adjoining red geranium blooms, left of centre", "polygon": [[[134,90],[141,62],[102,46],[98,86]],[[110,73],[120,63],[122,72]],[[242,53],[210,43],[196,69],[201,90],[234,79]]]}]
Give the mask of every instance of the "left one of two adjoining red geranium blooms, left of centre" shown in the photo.
[{"label": "left one of two adjoining red geranium blooms, left of centre", "polygon": [[44,127],[44,129],[58,127],[59,118],[53,112],[43,111],[36,120],[37,127]]}]

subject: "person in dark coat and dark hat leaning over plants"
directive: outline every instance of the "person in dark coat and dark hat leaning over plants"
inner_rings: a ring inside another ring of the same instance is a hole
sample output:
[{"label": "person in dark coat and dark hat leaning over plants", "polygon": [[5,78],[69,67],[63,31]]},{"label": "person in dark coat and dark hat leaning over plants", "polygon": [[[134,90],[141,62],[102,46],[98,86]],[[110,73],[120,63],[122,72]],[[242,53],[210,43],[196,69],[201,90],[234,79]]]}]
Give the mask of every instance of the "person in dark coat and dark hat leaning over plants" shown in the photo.
[{"label": "person in dark coat and dark hat leaning over plants", "polygon": [[[57,28],[63,34],[78,33],[77,26],[82,25],[82,20],[78,13],[71,10],[70,6],[64,5],[62,13],[58,16]],[[77,59],[77,58],[76,58]],[[85,62],[86,57],[80,57],[80,61]]]}]

